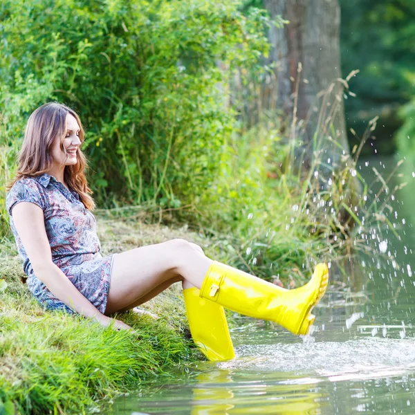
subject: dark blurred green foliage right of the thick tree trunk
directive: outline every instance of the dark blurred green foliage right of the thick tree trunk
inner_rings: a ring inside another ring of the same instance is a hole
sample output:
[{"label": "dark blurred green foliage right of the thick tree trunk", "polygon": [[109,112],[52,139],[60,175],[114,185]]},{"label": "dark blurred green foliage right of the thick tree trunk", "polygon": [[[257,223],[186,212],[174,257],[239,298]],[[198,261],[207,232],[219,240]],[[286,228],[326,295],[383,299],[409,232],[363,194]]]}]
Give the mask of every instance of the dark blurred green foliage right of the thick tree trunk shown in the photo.
[{"label": "dark blurred green foliage right of the thick tree trunk", "polygon": [[[380,116],[381,154],[394,151],[402,121],[398,110],[414,95],[415,9],[412,0],[340,0],[342,73],[359,69],[351,82],[356,98],[344,102],[348,127],[362,136],[371,118]],[[357,143],[350,134],[349,139]],[[373,149],[366,149],[373,153]]]}]

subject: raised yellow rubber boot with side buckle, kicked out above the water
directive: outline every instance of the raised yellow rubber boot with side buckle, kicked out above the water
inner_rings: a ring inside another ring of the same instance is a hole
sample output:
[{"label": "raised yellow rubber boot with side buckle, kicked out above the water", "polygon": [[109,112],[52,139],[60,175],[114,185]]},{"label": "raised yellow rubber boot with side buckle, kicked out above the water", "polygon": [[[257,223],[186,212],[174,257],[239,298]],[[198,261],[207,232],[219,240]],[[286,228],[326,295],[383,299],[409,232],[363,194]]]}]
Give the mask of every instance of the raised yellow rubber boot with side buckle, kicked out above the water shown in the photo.
[{"label": "raised yellow rubber boot with side buckle, kicked out above the water", "polygon": [[304,335],[315,319],[311,309],[326,292],[328,280],[327,265],[317,264],[306,285],[286,290],[213,261],[203,280],[200,295],[237,313],[270,320],[294,334]]}]

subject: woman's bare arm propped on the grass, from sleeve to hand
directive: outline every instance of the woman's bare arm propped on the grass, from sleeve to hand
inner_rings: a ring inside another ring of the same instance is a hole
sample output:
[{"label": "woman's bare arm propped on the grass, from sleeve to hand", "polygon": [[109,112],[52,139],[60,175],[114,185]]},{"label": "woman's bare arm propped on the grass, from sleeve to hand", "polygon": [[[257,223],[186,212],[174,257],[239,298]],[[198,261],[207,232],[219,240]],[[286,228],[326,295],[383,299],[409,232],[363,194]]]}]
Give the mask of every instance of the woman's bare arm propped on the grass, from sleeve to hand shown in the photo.
[{"label": "woman's bare arm propped on the grass, from sleeve to hand", "polygon": [[[104,326],[113,319],[100,313],[71,283],[62,270],[53,263],[52,252],[44,224],[43,210],[35,203],[21,202],[12,209],[16,230],[26,250],[37,278],[68,307],[85,317],[93,317]],[[116,320],[114,326],[130,328]]]}]

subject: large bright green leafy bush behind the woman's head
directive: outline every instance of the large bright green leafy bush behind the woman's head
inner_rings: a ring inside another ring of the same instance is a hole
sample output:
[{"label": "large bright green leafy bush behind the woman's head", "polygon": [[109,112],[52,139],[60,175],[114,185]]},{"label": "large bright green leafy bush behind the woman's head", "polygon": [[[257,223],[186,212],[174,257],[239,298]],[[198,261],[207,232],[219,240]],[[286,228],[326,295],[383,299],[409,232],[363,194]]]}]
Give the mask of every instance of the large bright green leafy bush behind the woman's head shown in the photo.
[{"label": "large bright green leafy bush behind the woman's head", "polygon": [[265,13],[239,3],[3,1],[0,145],[15,155],[30,111],[58,100],[86,125],[100,205],[192,201],[237,127],[227,77],[268,47]]}]

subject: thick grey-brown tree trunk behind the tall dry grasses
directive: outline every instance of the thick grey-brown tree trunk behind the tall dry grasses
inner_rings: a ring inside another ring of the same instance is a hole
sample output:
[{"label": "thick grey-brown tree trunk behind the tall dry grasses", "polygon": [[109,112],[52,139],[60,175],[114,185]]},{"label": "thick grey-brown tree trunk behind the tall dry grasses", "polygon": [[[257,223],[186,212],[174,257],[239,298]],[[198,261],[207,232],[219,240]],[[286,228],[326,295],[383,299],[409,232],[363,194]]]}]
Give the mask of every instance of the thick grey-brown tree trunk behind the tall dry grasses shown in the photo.
[{"label": "thick grey-brown tree trunk behind the tall dry grasses", "polygon": [[[295,148],[298,140],[305,145],[314,142],[314,151],[303,151],[304,167],[310,166],[316,151],[326,153],[322,154],[325,163],[329,160],[333,167],[341,165],[342,151],[349,154],[349,145],[343,84],[338,81],[338,0],[264,0],[264,6],[272,18],[281,15],[290,23],[282,29],[270,28],[268,33],[272,48],[265,63],[276,62],[276,67],[274,80],[264,84],[263,105],[284,112],[291,124],[289,136],[292,144],[296,141]],[[334,133],[326,125],[329,118]],[[325,139],[329,136],[333,140]],[[313,140],[319,144],[316,146]]]}]

